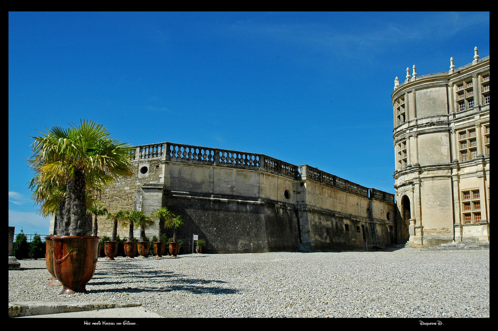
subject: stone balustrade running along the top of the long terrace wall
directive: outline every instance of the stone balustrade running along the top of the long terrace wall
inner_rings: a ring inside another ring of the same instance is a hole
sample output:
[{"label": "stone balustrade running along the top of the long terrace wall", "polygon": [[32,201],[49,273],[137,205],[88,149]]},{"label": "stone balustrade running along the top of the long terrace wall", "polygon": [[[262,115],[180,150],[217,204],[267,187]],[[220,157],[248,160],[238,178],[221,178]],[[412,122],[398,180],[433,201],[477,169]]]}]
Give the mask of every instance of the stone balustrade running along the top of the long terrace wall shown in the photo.
[{"label": "stone balustrade running along the top of the long terrace wall", "polygon": [[136,146],[133,160],[146,160],[154,157],[187,163],[266,171],[294,179],[312,180],[361,197],[394,203],[394,195],[390,193],[368,189],[309,165],[296,166],[263,154],[162,142]]}]

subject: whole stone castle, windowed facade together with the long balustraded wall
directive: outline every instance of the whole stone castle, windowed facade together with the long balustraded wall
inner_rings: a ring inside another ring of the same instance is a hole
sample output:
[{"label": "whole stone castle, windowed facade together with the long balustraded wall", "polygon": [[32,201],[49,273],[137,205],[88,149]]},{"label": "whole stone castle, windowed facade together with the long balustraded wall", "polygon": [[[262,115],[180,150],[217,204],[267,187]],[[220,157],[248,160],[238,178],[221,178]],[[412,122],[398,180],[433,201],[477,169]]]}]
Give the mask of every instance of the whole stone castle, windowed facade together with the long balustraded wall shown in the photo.
[{"label": "whole stone castle, windowed facade together with the long balustraded wall", "polygon": [[[489,73],[476,48],[458,69],[452,58],[449,72],[396,77],[395,195],[262,154],[163,142],[136,146],[134,176],[99,199],[113,212],[165,206],[185,221],[178,237],[197,234],[210,253],[489,241]],[[162,231],[156,222],[146,235]],[[111,235],[110,220],[98,235]]]}]

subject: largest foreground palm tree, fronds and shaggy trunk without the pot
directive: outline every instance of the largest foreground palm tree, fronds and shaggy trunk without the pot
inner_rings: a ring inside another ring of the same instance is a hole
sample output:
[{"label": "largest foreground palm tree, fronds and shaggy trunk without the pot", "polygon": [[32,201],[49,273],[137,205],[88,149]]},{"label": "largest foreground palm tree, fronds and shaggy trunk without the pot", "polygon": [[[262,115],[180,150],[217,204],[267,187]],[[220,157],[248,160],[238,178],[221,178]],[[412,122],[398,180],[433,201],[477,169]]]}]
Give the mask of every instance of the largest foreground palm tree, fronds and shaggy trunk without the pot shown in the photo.
[{"label": "largest foreground palm tree, fronds and shaggy trunk without the pot", "polygon": [[[70,219],[69,235],[87,235],[92,228],[87,195],[94,195],[120,177],[131,176],[134,148],[110,138],[104,126],[89,120],[81,120],[79,126],[69,129],[54,126],[32,138],[33,156],[28,162],[35,171],[30,185],[37,192],[35,200],[43,208],[49,198],[58,199],[58,205],[64,205],[64,221]],[[54,193],[44,198],[43,192],[57,190],[65,190],[65,196],[56,197]]]}]

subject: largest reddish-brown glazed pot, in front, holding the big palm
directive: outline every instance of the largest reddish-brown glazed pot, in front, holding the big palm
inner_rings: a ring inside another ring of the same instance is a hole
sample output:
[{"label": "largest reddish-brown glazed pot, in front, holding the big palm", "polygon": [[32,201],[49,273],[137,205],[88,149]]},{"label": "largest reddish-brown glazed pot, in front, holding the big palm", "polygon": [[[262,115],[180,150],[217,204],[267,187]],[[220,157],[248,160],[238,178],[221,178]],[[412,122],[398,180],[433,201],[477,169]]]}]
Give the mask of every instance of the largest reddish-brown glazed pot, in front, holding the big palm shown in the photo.
[{"label": "largest reddish-brown glazed pot, in front, holding the big palm", "polygon": [[97,266],[99,240],[86,235],[52,237],[54,274],[63,286],[59,294],[87,291]]}]

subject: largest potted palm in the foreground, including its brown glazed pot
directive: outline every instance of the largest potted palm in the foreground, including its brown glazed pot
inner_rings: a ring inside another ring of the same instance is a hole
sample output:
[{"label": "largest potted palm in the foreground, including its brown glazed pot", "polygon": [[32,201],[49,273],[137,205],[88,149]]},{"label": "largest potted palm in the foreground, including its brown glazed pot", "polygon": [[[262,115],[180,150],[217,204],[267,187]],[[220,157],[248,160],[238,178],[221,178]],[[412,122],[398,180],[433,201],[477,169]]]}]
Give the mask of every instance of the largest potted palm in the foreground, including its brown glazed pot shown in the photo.
[{"label": "largest potted palm in the foreground, including its brown glazed pot", "polygon": [[86,292],[99,246],[99,237],[87,235],[92,232],[87,195],[131,176],[134,148],[88,120],[69,129],[54,126],[32,138],[33,155],[28,162],[35,172],[30,182],[34,200],[41,210],[56,209],[57,223],[65,224],[52,237],[54,274],[63,285],[60,294]]}]

